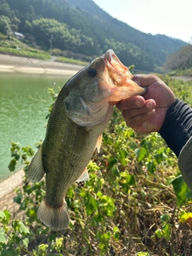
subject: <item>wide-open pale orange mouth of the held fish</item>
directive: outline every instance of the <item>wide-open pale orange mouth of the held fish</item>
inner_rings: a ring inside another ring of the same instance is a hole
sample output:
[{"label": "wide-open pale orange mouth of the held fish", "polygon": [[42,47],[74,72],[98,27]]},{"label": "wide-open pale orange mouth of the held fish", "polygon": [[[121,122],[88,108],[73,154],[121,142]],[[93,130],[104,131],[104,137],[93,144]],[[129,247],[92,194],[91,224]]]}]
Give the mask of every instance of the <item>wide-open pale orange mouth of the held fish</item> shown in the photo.
[{"label": "wide-open pale orange mouth of the held fish", "polygon": [[146,88],[138,86],[136,82],[131,80],[133,74],[122,64],[113,50],[107,50],[106,54],[103,55],[103,59],[109,74],[108,78],[106,78],[106,83],[111,89],[116,87],[118,93],[126,90],[127,98],[146,93]]}]

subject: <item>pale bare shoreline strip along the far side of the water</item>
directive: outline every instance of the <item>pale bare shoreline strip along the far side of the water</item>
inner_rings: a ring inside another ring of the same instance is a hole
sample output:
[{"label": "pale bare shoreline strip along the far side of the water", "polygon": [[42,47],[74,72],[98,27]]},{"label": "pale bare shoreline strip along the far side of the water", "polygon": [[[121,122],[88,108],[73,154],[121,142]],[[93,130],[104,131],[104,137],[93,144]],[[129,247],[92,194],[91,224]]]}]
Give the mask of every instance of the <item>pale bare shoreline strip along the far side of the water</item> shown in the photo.
[{"label": "pale bare shoreline strip along the far side of the water", "polygon": [[84,66],[56,62],[56,57],[43,61],[37,58],[0,54],[0,73],[74,75]]}]

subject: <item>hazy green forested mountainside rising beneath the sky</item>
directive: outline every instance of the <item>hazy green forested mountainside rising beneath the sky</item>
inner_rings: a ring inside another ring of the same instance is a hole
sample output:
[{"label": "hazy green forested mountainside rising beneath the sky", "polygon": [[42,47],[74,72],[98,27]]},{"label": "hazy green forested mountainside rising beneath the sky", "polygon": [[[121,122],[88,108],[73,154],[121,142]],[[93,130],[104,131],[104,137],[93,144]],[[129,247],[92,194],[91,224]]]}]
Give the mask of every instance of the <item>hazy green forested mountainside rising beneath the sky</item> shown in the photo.
[{"label": "hazy green forested mountainside rising beneath the sky", "polygon": [[153,71],[186,42],[145,34],[112,18],[92,0],[0,0],[0,32],[32,35],[43,50],[90,59],[113,49],[126,66]]}]

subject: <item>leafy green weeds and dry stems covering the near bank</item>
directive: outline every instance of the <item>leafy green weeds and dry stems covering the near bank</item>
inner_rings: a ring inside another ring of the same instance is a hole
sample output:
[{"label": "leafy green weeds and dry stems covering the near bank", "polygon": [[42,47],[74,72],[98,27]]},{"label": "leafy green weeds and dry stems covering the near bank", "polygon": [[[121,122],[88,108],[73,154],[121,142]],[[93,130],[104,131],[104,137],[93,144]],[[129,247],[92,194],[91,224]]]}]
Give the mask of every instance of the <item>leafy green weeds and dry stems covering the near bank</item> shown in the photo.
[{"label": "leafy green weeds and dry stems covering the near bank", "polygon": [[[161,78],[178,98],[191,104],[192,81]],[[49,92],[52,98],[57,96]],[[10,170],[18,161],[27,169],[34,150],[12,142],[11,155]],[[13,199],[25,218],[21,221],[7,210],[0,212],[0,254],[192,254],[192,192],[178,170],[177,158],[158,133],[135,134],[114,110],[101,152],[94,154],[88,170],[90,180],[75,183],[66,195],[71,221],[60,232],[50,230],[36,216],[45,182],[24,179]]]}]

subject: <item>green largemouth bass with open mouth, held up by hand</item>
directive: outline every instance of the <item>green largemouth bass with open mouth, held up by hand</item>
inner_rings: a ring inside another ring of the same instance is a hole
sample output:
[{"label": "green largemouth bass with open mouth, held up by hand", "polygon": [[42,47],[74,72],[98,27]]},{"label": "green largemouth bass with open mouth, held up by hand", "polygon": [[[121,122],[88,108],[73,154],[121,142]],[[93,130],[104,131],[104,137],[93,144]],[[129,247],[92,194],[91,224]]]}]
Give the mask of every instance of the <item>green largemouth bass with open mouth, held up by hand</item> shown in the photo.
[{"label": "green largemouth bass with open mouth, held up by hand", "polygon": [[114,112],[110,102],[145,93],[131,78],[130,70],[110,49],[78,71],[60,90],[45,139],[26,171],[31,182],[39,182],[46,174],[46,196],[37,216],[52,230],[69,226],[66,193],[72,183],[89,179],[86,166],[94,150],[99,152],[102,132]]}]

